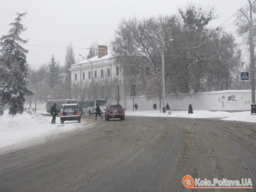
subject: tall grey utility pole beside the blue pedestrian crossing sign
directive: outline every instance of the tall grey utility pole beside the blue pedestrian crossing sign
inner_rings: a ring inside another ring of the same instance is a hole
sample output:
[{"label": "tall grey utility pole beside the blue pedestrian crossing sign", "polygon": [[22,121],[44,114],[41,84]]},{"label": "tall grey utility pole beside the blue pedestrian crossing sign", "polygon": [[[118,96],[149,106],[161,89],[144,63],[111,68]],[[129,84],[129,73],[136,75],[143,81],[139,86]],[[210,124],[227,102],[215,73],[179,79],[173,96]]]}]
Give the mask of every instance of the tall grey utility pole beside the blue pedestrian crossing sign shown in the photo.
[{"label": "tall grey utility pole beside the blue pedestrian crossing sign", "polygon": [[253,43],[253,16],[252,16],[252,4],[251,0],[248,0],[250,4],[250,78],[252,86],[252,104],[255,104],[255,74],[254,74],[254,43]]}]

